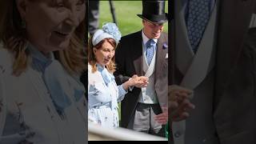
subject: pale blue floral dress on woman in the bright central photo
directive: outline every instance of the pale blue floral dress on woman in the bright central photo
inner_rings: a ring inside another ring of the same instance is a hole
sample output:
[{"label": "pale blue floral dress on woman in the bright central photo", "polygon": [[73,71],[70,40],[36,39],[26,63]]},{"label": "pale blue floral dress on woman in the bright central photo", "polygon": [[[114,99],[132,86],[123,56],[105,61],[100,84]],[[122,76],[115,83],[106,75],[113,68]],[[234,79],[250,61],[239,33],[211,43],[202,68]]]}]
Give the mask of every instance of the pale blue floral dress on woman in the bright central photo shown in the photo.
[{"label": "pale blue floral dress on woman in the bright central photo", "polygon": [[[123,86],[117,86],[114,75],[105,67],[97,65],[98,70],[92,73],[88,64],[88,118],[107,128],[118,127],[118,102],[127,93]],[[106,70],[106,74],[102,71]]]}]

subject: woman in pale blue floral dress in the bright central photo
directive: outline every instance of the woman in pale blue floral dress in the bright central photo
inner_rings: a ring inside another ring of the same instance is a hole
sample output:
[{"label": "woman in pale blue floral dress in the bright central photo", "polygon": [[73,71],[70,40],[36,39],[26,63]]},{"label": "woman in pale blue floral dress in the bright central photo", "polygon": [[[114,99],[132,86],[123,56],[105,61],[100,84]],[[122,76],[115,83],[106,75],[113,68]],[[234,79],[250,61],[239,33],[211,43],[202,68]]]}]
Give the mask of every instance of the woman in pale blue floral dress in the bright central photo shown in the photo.
[{"label": "woman in pale blue floral dress in the bright central photo", "polygon": [[117,86],[114,81],[114,52],[121,33],[114,23],[106,23],[90,38],[88,48],[88,118],[101,126],[118,127],[118,102],[132,86],[146,86],[148,78],[134,75]]}]

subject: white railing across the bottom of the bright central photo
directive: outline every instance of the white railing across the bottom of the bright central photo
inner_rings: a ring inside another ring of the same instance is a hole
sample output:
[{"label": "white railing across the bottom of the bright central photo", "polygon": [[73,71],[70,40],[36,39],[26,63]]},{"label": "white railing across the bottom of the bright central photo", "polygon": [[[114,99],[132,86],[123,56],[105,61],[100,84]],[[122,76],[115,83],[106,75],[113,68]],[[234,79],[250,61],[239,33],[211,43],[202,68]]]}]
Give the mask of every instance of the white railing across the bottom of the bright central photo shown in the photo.
[{"label": "white railing across the bottom of the bright central photo", "polygon": [[124,128],[107,129],[102,126],[88,123],[88,140],[89,141],[102,141],[102,140],[115,140],[115,141],[167,141],[166,138],[140,133],[134,130]]}]

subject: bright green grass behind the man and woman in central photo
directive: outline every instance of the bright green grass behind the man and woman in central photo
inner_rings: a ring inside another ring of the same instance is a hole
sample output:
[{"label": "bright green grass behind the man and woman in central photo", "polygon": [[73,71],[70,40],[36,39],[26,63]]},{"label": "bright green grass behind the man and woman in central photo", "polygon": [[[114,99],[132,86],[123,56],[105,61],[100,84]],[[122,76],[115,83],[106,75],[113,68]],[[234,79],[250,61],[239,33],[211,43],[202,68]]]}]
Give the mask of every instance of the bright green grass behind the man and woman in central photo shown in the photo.
[{"label": "bright green grass behind the man and woman in central photo", "polygon": [[[166,1],[166,13],[168,13],[167,3]],[[113,1],[113,4],[122,36],[142,30],[142,18],[137,16],[142,14],[142,1]],[[113,22],[109,1],[100,1],[100,28],[104,22]],[[164,31],[168,31],[167,22],[164,25]]]}]

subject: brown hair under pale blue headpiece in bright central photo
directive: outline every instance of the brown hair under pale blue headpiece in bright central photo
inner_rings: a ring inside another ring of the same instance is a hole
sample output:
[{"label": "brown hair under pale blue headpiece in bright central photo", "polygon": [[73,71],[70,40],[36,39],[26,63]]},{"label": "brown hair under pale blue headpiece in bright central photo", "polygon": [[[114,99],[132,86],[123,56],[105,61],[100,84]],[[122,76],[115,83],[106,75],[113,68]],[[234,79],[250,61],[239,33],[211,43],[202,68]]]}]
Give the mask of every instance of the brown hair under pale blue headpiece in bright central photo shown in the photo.
[{"label": "brown hair under pale blue headpiece in bright central photo", "polygon": [[[89,39],[89,47],[88,47],[88,61],[89,64],[92,66],[92,73],[94,73],[97,70],[97,60],[94,54],[94,50],[93,48],[96,48],[97,50],[102,48],[102,44],[104,42],[109,42],[111,46],[114,47],[114,50],[117,47],[117,43],[115,42],[115,40],[113,38],[104,38],[102,39],[101,42],[98,42],[98,44],[96,46],[93,46],[92,43],[92,38],[93,36]],[[110,63],[108,65],[106,65],[106,69],[110,71],[110,73],[114,73],[116,66],[115,66],[115,62],[114,62],[114,57],[110,59]]]}]

